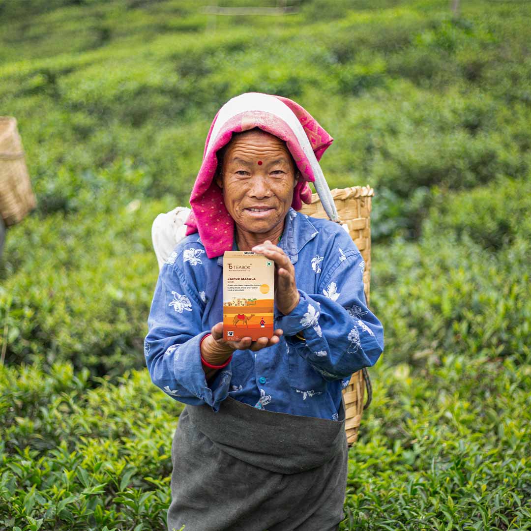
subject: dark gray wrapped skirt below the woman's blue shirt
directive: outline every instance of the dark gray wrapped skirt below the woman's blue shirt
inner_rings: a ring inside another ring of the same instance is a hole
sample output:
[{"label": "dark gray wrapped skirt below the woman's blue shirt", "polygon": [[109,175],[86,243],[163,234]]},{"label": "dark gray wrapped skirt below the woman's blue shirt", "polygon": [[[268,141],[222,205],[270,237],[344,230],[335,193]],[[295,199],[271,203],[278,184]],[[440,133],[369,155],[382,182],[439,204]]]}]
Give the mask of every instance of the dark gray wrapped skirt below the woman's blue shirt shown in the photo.
[{"label": "dark gray wrapped skirt below the woman's blue shirt", "polygon": [[172,443],[168,531],[336,531],[348,446],[339,421],[259,410],[228,397],[186,406]]}]

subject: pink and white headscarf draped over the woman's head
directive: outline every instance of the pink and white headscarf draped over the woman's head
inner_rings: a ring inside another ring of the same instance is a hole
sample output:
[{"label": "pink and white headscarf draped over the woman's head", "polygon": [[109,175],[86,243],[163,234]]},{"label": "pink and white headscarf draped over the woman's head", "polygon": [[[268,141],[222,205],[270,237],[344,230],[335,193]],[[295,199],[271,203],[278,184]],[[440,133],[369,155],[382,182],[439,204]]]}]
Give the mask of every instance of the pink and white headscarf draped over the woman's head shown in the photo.
[{"label": "pink and white headscarf draped over the woman's head", "polygon": [[[230,141],[233,133],[254,127],[286,141],[301,172],[292,207],[300,210],[303,201],[310,203],[312,193],[308,182],[315,183],[321,196],[318,184],[322,184],[324,176],[319,160],[333,138],[312,115],[295,101],[272,94],[245,92],[230,99],[219,109],[210,125],[203,162],[190,196],[192,212],[185,222],[188,226],[186,235],[199,232],[208,258],[230,251],[234,239],[234,220],[225,208],[220,187],[213,179],[218,165],[216,152]],[[324,185],[328,190],[326,181]],[[335,210],[333,202],[332,210]]]}]

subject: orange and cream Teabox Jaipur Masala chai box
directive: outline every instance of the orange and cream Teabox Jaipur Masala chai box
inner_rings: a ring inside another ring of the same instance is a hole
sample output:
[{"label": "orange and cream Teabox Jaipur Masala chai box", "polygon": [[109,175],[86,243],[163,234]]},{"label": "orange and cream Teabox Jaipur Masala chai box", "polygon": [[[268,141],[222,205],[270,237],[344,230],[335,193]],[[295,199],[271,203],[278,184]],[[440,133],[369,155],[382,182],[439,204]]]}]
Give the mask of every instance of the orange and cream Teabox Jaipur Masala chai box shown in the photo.
[{"label": "orange and cream Teabox Jaipur Masala chai box", "polygon": [[223,255],[223,336],[228,341],[273,336],[275,262],[252,251]]}]

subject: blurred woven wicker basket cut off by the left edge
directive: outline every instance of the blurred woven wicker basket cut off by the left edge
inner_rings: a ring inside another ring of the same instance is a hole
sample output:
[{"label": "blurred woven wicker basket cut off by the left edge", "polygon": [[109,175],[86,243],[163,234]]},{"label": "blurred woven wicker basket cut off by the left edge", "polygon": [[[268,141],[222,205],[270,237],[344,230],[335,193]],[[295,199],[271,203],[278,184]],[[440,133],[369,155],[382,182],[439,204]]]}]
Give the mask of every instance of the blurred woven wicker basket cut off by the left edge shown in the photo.
[{"label": "blurred woven wicker basket cut off by the left edge", "polygon": [[16,119],[0,116],[0,216],[14,225],[35,206]]}]

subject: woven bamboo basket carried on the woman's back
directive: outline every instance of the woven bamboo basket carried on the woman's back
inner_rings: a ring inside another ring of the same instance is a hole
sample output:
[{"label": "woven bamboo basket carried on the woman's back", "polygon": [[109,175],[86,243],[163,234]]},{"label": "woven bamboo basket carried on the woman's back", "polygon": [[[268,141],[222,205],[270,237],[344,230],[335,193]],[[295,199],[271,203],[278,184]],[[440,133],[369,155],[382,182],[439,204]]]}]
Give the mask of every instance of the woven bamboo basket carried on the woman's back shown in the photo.
[{"label": "woven bamboo basket carried on the woman's back", "polygon": [[[344,189],[333,189],[332,198],[336,203],[339,219],[348,226],[348,232],[365,261],[363,272],[363,288],[367,305],[371,277],[371,198],[374,190],[369,186],[352,186]],[[319,195],[312,194],[312,202],[303,205],[300,212],[314,218],[328,218]],[[363,405],[363,395],[367,390],[367,402]],[[345,430],[348,444],[354,444],[358,438],[359,424],[363,410],[371,401],[371,383],[366,369],[352,375],[347,388],[343,390],[345,400]]]}]

